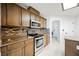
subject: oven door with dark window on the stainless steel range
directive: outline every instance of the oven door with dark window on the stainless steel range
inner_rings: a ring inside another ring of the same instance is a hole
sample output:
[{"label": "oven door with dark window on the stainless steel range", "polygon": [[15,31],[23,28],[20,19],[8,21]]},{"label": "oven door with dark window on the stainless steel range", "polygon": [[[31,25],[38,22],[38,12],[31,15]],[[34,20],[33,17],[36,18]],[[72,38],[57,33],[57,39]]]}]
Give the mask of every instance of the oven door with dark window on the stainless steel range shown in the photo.
[{"label": "oven door with dark window on the stainless steel range", "polygon": [[43,48],[43,37],[35,38],[35,52],[39,51],[41,48]]}]

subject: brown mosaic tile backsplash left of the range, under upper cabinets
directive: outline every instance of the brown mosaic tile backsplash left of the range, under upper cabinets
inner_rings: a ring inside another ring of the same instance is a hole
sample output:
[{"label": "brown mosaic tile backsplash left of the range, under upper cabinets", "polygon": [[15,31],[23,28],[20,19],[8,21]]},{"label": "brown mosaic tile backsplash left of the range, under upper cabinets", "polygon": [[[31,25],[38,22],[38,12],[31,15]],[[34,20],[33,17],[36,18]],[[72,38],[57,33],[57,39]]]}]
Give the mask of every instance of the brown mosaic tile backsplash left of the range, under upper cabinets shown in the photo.
[{"label": "brown mosaic tile backsplash left of the range, under upper cabinets", "polygon": [[1,28],[2,43],[6,43],[11,40],[18,40],[18,38],[21,37],[27,37],[27,29]]}]

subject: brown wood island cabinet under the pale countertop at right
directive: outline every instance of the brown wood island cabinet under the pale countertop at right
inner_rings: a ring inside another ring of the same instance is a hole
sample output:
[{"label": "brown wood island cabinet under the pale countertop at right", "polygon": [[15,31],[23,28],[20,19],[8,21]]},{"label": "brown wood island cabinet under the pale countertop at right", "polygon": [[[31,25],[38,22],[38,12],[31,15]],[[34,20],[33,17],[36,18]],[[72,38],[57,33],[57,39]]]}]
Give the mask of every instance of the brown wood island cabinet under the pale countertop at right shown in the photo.
[{"label": "brown wood island cabinet under the pale countertop at right", "polygon": [[65,55],[66,56],[79,56],[79,51],[76,50],[76,45],[79,44],[78,41],[65,40]]}]

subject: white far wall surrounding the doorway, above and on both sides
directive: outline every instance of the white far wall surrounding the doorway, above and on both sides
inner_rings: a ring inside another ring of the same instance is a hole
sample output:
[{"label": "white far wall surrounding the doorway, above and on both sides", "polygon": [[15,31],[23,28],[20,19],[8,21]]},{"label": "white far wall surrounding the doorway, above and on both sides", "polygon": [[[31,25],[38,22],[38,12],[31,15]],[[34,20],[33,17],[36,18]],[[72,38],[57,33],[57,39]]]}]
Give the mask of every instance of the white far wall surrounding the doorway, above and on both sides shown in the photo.
[{"label": "white far wall surrounding the doorway, above and on both sides", "polygon": [[74,36],[75,18],[76,17],[73,17],[73,16],[51,16],[47,21],[48,22],[47,26],[52,31],[53,21],[59,20],[60,26],[61,26],[60,27],[61,32],[62,32],[62,29],[64,29],[65,36]]}]

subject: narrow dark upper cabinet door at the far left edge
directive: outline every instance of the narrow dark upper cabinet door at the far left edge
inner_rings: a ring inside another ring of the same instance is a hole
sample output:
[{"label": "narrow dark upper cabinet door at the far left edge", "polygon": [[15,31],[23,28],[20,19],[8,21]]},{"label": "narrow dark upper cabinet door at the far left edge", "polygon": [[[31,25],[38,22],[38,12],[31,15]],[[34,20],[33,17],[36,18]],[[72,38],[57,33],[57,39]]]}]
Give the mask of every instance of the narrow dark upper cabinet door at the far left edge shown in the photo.
[{"label": "narrow dark upper cabinet door at the far left edge", "polygon": [[1,4],[1,25],[6,26],[6,18],[7,18],[7,4]]}]

